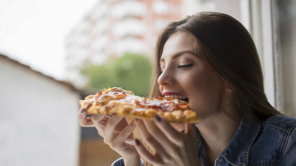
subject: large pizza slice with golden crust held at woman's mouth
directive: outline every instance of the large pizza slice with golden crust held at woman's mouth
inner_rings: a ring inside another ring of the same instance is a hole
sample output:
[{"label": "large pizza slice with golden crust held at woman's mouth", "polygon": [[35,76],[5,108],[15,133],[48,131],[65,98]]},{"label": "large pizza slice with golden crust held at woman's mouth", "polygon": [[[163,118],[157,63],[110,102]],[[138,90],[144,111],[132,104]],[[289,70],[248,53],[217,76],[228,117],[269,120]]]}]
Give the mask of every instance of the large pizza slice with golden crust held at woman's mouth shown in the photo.
[{"label": "large pizza slice with golden crust held at woman's mouth", "polygon": [[169,122],[197,123],[200,118],[189,108],[189,103],[172,97],[139,97],[133,91],[113,87],[80,100],[80,109],[88,114],[117,115],[138,119],[154,119],[154,114]]}]

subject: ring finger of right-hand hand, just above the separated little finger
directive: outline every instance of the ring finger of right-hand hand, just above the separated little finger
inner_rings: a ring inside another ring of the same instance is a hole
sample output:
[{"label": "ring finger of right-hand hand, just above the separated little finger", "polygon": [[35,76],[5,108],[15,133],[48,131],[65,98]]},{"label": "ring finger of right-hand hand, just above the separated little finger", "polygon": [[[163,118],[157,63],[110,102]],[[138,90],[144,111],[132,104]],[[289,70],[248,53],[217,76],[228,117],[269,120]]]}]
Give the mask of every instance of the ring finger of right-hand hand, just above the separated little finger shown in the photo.
[{"label": "ring finger of right-hand hand, just above the separated little finger", "polygon": [[138,127],[139,131],[140,131],[141,137],[154,150],[154,152],[157,152],[157,154],[160,155],[160,156],[167,155],[166,151],[163,149],[163,147],[147,131],[144,122],[142,120],[137,120],[136,124],[137,124],[137,127]]}]

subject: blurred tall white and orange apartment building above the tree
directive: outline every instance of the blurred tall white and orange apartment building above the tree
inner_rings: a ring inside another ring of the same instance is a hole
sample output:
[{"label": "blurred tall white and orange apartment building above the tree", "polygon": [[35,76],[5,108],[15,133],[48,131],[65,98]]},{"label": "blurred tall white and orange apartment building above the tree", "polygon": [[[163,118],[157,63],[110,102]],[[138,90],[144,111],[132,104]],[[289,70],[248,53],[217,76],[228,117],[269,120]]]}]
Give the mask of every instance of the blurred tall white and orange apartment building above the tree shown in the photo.
[{"label": "blurred tall white and orange apartment building above the tree", "polygon": [[125,53],[152,57],[162,27],[181,19],[181,6],[181,0],[99,0],[66,37],[66,79],[81,88],[84,65]]}]

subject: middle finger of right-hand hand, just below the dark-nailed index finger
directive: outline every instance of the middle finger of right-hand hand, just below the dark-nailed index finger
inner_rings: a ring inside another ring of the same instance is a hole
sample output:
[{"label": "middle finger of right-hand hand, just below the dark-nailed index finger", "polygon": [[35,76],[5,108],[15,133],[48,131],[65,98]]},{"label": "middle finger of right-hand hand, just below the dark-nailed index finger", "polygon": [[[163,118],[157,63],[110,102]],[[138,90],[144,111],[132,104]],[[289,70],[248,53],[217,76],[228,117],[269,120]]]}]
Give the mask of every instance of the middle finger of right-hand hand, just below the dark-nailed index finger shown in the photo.
[{"label": "middle finger of right-hand hand, just below the dark-nailed index finger", "polygon": [[[168,149],[169,151],[175,152],[175,146],[174,143],[172,143],[167,136],[156,126],[154,121],[150,120],[142,120],[145,124],[145,127],[148,131],[148,133],[151,134],[151,136],[159,142],[159,144],[162,145],[164,149]],[[141,131],[140,131],[141,132]]]}]

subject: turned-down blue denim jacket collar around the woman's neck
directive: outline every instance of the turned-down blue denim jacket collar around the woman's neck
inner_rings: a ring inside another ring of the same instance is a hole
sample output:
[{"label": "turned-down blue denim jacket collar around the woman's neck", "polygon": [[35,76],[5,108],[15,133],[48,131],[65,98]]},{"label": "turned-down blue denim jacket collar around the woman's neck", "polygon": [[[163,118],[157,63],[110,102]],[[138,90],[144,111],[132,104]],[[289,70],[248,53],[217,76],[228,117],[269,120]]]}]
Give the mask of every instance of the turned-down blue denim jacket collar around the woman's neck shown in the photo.
[{"label": "turned-down blue denim jacket collar around the woman's neck", "polygon": [[[232,137],[229,144],[224,151],[215,160],[215,165],[218,164],[223,158],[228,163],[236,166],[245,166],[248,164],[250,149],[256,140],[261,128],[261,123],[256,123],[242,117],[236,133]],[[208,165],[208,155],[203,147],[203,138],[196,129],[197,147],[199,152],[199,160],[203,165]]]}]

